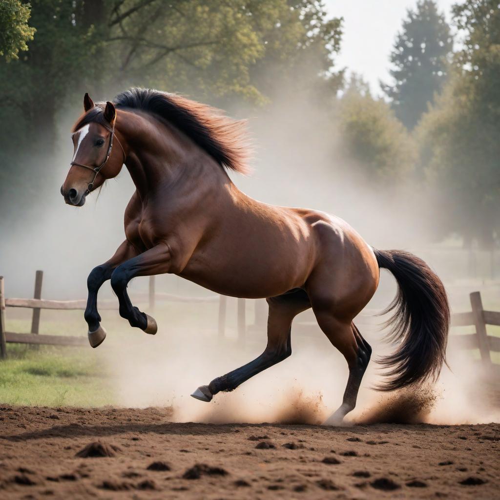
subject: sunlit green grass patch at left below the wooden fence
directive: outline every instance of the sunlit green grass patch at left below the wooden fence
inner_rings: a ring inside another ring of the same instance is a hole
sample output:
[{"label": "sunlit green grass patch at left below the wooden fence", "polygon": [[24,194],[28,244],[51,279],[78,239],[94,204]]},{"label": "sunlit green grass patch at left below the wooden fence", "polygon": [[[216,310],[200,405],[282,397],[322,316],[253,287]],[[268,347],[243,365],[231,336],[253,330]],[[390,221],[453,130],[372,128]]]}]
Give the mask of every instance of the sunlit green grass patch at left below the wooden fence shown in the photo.
[{"label": "sunlit green grass patch at left below the wooden fence", "polygon": [[112,403],[106,373],[82,348],[7,344],[0,402],[41,406]]}]

